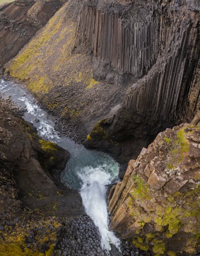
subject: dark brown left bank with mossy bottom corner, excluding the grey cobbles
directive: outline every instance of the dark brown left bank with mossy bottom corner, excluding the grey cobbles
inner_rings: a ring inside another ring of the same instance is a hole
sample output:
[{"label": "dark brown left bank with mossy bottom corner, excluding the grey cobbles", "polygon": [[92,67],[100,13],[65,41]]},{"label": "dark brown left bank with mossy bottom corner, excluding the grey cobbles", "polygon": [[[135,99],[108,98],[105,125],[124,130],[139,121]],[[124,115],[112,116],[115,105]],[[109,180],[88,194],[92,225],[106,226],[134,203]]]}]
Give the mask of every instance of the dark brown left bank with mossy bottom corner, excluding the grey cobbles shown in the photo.
[{"label": "dark brown left bank with mossy bottom corner, excluding the grey cobbles", "polygon": [[11,106],[1,99],[0,252],[52,255],[61,223],[84,214],[79,193],[53,178],[69,153],[42,140]]}]

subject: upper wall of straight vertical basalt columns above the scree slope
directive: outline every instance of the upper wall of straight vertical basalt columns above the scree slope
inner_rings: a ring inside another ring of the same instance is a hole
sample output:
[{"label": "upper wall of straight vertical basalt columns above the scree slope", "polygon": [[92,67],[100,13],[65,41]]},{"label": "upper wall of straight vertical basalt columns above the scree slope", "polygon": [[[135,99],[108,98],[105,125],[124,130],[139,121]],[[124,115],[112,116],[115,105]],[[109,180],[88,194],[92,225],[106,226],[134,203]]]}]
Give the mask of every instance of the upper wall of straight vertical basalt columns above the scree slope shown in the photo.
[{"label": "upper wall of straight vertical basalt columns above the scree slope", "polygon": [[160,19],[153,13],[153,6],[139,9],[135,15],[132,12],[131,8],[104,11],[84,5],[76,37],[79,44],[91,45],[98,62],[120,74],[141,78],[159,53]]}]

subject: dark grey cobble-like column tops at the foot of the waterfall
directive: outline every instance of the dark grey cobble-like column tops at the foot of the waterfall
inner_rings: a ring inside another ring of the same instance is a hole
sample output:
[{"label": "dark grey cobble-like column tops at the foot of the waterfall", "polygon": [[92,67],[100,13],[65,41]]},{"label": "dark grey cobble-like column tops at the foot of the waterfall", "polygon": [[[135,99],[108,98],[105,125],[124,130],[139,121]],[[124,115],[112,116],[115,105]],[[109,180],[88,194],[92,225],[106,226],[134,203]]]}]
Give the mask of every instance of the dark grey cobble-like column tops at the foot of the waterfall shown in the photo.
[{"label": "dark grey cobble-like column tops at the foot of the waterfall", "polygon": [[61,256],[149,256],[149,253],[141,252],[128,242],[121,244],[121,252],[112,247],[111,252],[101,248],[101,240],[98,228],[88,216],[80,216],[66,221],[60,228],[58,242],[55,245],[53,255]]}]

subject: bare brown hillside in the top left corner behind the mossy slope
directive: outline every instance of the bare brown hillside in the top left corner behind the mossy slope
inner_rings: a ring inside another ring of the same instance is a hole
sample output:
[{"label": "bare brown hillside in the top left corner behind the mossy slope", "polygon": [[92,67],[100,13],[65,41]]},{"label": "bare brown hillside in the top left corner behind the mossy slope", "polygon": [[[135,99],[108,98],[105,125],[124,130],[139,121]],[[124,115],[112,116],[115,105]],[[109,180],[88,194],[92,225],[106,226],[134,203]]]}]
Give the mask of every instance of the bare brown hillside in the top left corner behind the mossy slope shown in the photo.
[{"label": "bare brown hillside in the top left corner behind the mossy slope", "polygon": [[18,54],[62,3],[23,0],[0,7],[0,68]]}]

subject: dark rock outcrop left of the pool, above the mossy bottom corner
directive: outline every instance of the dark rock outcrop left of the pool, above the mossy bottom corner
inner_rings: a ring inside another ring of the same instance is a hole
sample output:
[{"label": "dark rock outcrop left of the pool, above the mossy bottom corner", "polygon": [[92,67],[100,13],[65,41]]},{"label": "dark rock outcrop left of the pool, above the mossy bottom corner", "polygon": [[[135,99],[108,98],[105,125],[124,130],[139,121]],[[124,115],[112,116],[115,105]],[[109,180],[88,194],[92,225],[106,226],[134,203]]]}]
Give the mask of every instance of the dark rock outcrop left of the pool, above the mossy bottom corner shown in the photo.
[{"label": "dark rock outcrop left of the pool, above the mossy bottom corner", "polygon": [[[79,193],[59,185],[59,173],[65,168],[69,152],[42,140],[2,99],[0,116],[1,168],[17,184],[18,198],[23,205],[48,214],[82,213]],[[2,207],[6,207],[5,201]]]}]

